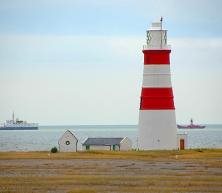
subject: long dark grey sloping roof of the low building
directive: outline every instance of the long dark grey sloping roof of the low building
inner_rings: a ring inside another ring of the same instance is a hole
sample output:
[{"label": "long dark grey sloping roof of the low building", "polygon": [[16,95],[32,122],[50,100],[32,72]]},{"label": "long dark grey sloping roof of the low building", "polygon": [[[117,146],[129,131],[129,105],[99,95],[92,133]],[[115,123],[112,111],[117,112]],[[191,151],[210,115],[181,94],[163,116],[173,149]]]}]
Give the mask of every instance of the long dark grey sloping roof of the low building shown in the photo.
[{"label": "long dark grey sloping roof of the low building", "polygon": [[88,138],[83,145],[120,145],[123,138]]}]

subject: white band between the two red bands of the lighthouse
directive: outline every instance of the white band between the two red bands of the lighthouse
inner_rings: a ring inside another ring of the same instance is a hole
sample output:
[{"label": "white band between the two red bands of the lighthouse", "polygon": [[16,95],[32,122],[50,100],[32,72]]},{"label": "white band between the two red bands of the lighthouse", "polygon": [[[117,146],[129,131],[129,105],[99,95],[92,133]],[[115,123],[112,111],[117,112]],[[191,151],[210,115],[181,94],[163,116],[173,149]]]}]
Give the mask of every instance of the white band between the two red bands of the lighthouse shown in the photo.
[{"label": "white band between the two red bands of the lighthouse", "polygon": [[171,87],[170,65],[144,65],[143,87]]}]

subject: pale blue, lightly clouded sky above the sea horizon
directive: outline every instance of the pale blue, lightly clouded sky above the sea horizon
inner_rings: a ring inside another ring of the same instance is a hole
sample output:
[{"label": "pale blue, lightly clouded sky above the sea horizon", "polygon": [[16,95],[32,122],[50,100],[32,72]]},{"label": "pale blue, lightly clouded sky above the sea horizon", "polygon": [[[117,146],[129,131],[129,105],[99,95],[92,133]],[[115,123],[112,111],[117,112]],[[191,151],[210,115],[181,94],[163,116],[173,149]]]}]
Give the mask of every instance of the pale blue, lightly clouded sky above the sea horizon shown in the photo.
[{"label": "pale blue, lightly clouded sky above the sea horizon", "polygon": [[162,16],[178,123],[222,123],[221,0],[0,0],[0,122],[137,124]]}]

